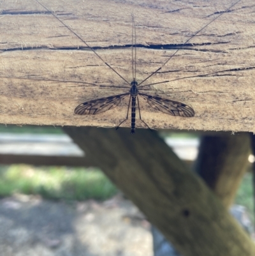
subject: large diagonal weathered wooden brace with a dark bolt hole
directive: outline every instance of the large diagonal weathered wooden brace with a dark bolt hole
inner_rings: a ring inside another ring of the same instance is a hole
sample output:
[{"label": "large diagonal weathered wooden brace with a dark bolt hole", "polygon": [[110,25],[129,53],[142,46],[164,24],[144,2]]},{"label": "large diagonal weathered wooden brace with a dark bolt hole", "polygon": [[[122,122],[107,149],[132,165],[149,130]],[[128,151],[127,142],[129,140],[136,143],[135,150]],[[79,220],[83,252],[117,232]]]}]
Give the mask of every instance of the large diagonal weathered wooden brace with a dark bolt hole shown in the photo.
[{"label": "large diagonal weathered wooden brace with a dark bolt hole", "polygon": [[203,181],[157,133],[64,127],[87,157],[185,256],[255,255],[255,246]]}]

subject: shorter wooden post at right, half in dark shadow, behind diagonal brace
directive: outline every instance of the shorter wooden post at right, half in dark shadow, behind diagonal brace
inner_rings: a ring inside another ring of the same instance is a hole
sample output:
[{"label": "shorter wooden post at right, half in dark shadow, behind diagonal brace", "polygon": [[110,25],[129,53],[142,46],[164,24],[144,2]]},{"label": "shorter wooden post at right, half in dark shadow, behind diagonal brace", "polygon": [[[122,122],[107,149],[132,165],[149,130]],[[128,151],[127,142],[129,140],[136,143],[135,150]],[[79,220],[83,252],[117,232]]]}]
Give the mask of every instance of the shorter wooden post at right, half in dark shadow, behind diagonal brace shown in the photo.
[{"label": "shorter wooden post at right, half in dark shadow, behind diagonal brace", "polygon": [[247,171],[251,142],[248,133],[203,136],[196,167],[198,174],[227,208]]}]

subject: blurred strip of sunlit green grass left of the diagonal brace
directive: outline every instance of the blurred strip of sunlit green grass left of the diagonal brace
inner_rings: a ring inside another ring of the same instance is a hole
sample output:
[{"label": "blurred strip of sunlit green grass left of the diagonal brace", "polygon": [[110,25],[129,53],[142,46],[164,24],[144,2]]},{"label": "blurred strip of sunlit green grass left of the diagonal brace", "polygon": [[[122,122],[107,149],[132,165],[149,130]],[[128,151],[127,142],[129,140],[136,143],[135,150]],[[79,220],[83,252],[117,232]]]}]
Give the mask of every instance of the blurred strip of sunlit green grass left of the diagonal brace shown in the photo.
[{"label": "blurred strip of sunlit green grass left of the diagonal brace", "polygon": [[0,197],[13,193],[53,200],[105,200],[117,188],[98,169],[0,165]]}]

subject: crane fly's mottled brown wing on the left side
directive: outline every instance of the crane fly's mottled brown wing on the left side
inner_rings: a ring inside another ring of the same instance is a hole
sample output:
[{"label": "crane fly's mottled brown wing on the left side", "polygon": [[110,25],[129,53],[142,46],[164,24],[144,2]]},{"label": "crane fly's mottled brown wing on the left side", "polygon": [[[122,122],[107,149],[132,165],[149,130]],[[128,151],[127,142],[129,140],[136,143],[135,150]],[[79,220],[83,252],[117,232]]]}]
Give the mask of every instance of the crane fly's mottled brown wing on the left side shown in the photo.
[{"label": "crane fly's mottled brown wing on the left side", "polygon": [[121,100],[123,100],[129,93],[119,94],[114,96],[109,96],[101,98],[98,100],[91,100],[89,102],[84,102],[75,108],[75,114],[78,115],[96,115],[107,110],[113,109],[119,105]]}]

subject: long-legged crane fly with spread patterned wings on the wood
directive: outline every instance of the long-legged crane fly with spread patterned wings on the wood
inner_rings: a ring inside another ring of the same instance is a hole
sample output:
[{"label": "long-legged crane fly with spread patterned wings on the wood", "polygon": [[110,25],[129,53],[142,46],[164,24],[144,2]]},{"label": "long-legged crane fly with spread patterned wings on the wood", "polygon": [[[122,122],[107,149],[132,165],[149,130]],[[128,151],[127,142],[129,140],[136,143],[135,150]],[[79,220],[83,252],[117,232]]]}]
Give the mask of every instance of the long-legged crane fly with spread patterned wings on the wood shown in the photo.
[{"label": "long-legged crane fly with spread patterned wings on the wood", "polygon": [[[165,66],[171,60],[171,58],[173,56],[175,56],[177,54],[177,52],[179,52],[180,49],[183,49],[184,45],[186,45],[187,42],[189,42],[192,38],[194,38],[194,36],[196,36],[203,29],[205,29],[205,27],[209,26],[212,22],[214,22],[214,20],[218,19],[223,13],[226,13],[226,12],[230,11],[230,9],[233,6],[235,6],[237,3],[239,3],[242,0],[238,0],[237,2],[231,4],[231,6],[227,10],[219,12],[219,15],[217,15],[214,19],[212,19],[210,22],[208,22],[208,24],[201,27],[201,29],[199,31],[197,31],[191,37],[189,37],[189,39],[186,40],[180,46],[179,49],[175,50],[175,52],[163,63],[163,65],[160,68],[157,68],[157,70],[155,72],[152,72],[146,79],[144,79],[139,84],[136,80],[136,30],[135,30],[135,19],[134,19],[133,15],[132,15],[132,20],[133,20],[133,30],[132,30],[133,80],[129,84],[129,82],[126,79],[124,79],[124,77],[122,77],[122,75],[120,75],[117,71],[115,71],[112,68],[112,66],[110,66],[108,63],[106,63],[101,58],[101,56],[99,56],[99,54],[92,47],[90,47],[87,44],[87,42],[85,40],[83,40],[69,26],[64,24],[64,22],[62,22],[62,20],[59,19],[59,17],[57,17],[57,15],[55,15],[54,12],[48,10],[48,8],[46,6],[44,6],[43,4],[41,4],[40,1],[38,1],[38,0],[34,0],[34,1],[36,1],[38,4],[43,6],[43,8],[45,8],[45,10],[49,11],[49,13],[51,15],[53,15],[55,17],[55,19],[59,20],[59,22],[61,22],[61,24],[64,27],[69,29],[69,31],[71,31],[71,33],[73,33],[75,36],[77,36],[77,38],[79,38],[90,50],[92,50],[92,52],[94,52],[94,54],[96,54],[96,56],[99,57],[99,59],[101,59],[101,61],[103,61],[103,63],[105,63],[106,66],[108,66],[108,68],[110,68],[113,72],[115,72],[115,74],[119,75],[119,77],[122,80],[124,80],[129,86],[131,86],[128,93],[117,94],[117,95],[108,96],[108,97],[105,97],[105,98],[99,98],[99,99],[96,99],[96,100],[90,100],[88,102],[81,103],[80,105],[78,105],[75,108],[75,114],[78,114],[78,115],[100,114],[102,112],[105,112],[107,110],[110,110],[110,109],[113,109],[113,108],[117,107],[120,104],[120,102],[122,102],[122,100],[124,100],[124,98],[126,98],[126,96],[129,96],[128,113],[127,113],[126,119],[124,119],[120,124],[122,124],[122,123],[124,123],[124,121],[128,120],[128,114],[129,114],[130,103],[131,103],[131,134],[135,134],[136,100],[137,100],[137,105],[138,105],[139,118],[149,128],[149,126],[142,120],[142,117],[141,117],[140,105],[139,105],[139,96],[141,98],[143,98],[144,100],[147,100],[147,103],[149,103],[150,107],[152,107],[156,110],[159,110],[159,111],[161,111],[165,114],[170,114],[171,116],[180,116],[180,117],[193,117],[194,116],[194,110],[191,107],[189,107],[188,105],[184,104],[184,103],[176,102],[174,100],[170,100],[170,99],[167,99],[167,98],[162,98],[162,97],[159,97],[159,96],[152,96],[152,95],[149,95],[149,94],[141,93],[139,90],[142,90],[142,87],[152,86],[154,84],[161,84],[161,83],[170,82],[170,81],[163,81],[163,82],[156,82],[156,83],[153,83],[153,84],[142,85],[143,82],[145,82],[147,79],[149,79],[150,77],[155,75],[157,72],[159,72],[159,70],[161,70],[163,68],[163,66]],[[135,33],[135,43],[134,43],[134,33]],[[134,45],[135,45],[135,47],[134,47]],[[135,50],[134,50],[134,48],[135,48]],[[135,54],[135,56],[134,56],[134,54]],[[134,61],[134,59],[135,59],[135,61]],[[213,72],[213,73],[218,73],[218,72]],[[213,74],[213,73],[209,73],[209,74],[206,74],[206,75],[210,75],[210,74]],[[206,76],[206,75],[195,75],[193,77],[203,77],[203,76]],[[189,77],[184,77],[184,78],[180,78],[180,79],[186,79],[186,78],[189,78]],[[174,79],[174,80],[180,80],[180,79]],[[171,81],[173,81],[173,80],[171,80]],[[121,87],[121,86],[115,86],[115,87]],[[116,129],[119,128],[120,124],[117,126]]]}]

